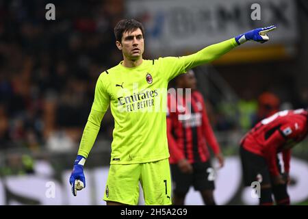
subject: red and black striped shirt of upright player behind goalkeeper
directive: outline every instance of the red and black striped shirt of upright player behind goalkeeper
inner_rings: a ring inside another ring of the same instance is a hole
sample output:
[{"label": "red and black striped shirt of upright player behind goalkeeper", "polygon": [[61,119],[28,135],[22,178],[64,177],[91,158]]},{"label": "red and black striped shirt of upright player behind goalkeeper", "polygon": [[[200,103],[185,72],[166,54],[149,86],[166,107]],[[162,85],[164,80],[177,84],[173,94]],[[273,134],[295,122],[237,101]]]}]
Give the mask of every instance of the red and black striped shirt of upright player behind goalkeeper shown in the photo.
[{"label": "red and black striped shirt of upright player behind goalkeeper", "polygon": [[188,162],[206,162],[209,159],[207,143],[215,154],[220,147],[209,124],[200,92],[193,91],[190,97],[168,94],[167,136],[170,164],[181,159]]}]

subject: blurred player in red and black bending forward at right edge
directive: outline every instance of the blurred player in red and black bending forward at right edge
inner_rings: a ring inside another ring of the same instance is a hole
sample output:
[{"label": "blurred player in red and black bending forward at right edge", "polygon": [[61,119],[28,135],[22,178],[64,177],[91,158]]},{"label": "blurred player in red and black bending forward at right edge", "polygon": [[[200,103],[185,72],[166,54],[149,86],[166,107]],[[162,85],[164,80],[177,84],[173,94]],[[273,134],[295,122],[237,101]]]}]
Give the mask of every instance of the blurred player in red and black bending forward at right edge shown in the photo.
[{"label": "blurred player in red and black bending forward at right edge", "polygon": [[[244,185],[259,181],[260,205],[290,205],[287,183],[290,182],[290,159],[293,146],[307,136],[307,110],[285,110],[261,120],[242,138],[240,157]],[[283,154],[284,172],[277,153]]]}]

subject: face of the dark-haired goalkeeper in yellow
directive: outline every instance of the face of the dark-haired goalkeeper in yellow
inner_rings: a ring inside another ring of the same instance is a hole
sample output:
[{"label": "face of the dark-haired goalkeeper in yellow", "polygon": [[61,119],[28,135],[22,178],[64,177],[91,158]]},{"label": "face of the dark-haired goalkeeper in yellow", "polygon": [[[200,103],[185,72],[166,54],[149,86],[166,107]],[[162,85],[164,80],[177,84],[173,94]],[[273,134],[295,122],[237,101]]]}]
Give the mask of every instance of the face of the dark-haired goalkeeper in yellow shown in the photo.
[{"label": "face of the dark-haired goalkeeper in yellow", "polygon": [[116,41],[118,49],[122,50],[123,56],[128,60],[138,60],[142,58],[144,51],[144,38],[140,28],[134,31],[123,33],[121,42]]}]

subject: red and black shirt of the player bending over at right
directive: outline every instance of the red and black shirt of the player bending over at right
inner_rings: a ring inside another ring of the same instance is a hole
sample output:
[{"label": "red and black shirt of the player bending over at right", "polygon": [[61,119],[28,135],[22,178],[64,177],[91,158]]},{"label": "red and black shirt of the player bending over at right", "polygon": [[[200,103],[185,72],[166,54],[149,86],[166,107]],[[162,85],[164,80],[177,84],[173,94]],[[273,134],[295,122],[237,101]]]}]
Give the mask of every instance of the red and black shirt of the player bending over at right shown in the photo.
[{"label": "red and black shirt of the player bending over at right", "polygon": [[271,175],[279,175],[276,157],[282,152],[285,172],[289,172],[291,148],[307,136],[307,116],[303,109],[277,112],[246,133],[241,145],[264,157]]}]

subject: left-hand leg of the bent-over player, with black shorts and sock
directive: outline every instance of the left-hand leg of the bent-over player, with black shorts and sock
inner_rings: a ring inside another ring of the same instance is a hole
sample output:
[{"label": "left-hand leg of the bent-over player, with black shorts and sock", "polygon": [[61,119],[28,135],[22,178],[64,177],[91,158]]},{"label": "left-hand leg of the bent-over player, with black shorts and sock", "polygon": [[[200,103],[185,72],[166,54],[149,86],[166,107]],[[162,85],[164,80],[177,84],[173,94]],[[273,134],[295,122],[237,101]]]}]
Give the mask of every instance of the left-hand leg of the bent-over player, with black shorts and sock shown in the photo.
[{"label": "left-hand leg of the bent-over player, with black shorts and sock", "polygon": [[244,186],[251,187],[251,183],[260,183],[259,205],[272,205],[272,188],[270,185],[270,173],[264,157],[255,155],[240,147],[240,159]]}]

